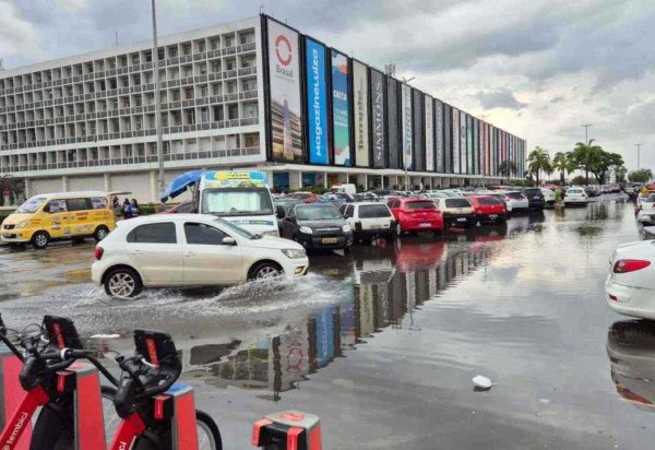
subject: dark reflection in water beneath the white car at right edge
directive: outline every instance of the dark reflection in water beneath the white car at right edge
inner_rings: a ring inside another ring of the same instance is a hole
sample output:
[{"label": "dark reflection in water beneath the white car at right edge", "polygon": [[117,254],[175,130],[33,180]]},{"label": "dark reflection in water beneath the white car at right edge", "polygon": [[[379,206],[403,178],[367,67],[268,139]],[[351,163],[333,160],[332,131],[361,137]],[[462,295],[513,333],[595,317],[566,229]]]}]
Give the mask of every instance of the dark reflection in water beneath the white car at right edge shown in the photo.
[{"label": "dark reflection in water beneath the white car at right edge", "polygon": [[639,408],[655,412],[655,322],[612,324],[607,333],[607,355],[617,393]]}]

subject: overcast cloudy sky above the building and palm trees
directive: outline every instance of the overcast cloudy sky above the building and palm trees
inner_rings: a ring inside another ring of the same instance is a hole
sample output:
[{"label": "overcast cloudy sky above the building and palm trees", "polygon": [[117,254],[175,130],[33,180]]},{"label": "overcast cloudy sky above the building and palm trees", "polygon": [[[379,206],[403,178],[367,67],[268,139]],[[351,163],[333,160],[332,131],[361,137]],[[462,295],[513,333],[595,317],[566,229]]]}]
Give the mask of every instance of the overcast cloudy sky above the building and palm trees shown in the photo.
[{"label": "overcast cloudy sky above the building and palm trees", "polygon": [[[4,68],[151,38],[150,0],[0,0]],[[159,34],[273,16],[547,149],[655,168],[654,0],[158,0]]]}]

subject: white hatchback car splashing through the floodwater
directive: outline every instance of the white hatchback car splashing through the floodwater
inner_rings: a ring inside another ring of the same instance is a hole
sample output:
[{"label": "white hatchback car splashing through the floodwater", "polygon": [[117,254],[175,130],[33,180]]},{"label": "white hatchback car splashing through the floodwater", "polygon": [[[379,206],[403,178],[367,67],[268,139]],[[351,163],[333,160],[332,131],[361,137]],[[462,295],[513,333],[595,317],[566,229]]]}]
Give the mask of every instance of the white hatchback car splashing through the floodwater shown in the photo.
[{"label": "white hatchback car splashing through the floodwater", "polygon": [[301,245],[253,235],[213,215],[157,214],[120,221],[95,249],[91,276],[115,297],[143,287],[229,286],[303,275]]}]

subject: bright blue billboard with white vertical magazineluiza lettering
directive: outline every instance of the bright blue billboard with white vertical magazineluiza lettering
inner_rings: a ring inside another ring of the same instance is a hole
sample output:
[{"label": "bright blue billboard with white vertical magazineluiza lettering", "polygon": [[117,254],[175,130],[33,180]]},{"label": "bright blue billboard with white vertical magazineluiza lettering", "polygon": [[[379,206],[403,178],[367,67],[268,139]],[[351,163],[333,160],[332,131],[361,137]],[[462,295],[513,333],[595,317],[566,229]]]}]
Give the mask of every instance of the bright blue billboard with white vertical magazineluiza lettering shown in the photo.
[{"label": "bright blue billboard with white vertical magazineluiza lettering", "polygon": [[307,128],[310,164],[329,164],[327,153],[327,83],[325,46],[306,38]]}]

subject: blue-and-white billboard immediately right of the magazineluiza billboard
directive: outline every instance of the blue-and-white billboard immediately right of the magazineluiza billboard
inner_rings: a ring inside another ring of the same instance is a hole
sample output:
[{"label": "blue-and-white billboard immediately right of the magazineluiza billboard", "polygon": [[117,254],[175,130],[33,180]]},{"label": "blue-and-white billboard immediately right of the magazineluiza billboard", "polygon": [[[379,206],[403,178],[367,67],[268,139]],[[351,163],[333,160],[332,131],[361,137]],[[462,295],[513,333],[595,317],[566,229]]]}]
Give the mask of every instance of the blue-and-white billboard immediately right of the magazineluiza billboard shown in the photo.
[{"label": "blue-and-white billboard immediately right of the magazineluiza billboard", "polygon": [[336,50],[332,54],[332,145],[334,164],[350,166],[350,92],[348,88],[348,57]]}]

